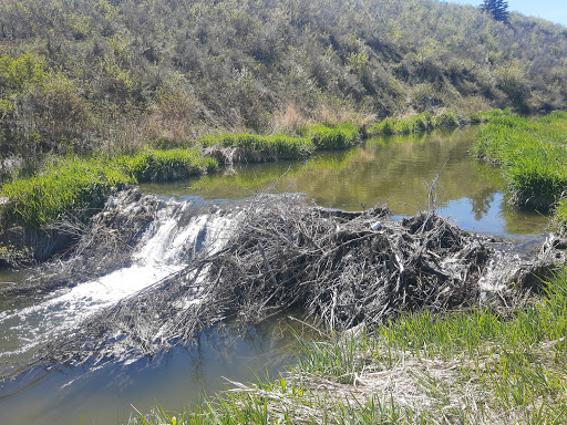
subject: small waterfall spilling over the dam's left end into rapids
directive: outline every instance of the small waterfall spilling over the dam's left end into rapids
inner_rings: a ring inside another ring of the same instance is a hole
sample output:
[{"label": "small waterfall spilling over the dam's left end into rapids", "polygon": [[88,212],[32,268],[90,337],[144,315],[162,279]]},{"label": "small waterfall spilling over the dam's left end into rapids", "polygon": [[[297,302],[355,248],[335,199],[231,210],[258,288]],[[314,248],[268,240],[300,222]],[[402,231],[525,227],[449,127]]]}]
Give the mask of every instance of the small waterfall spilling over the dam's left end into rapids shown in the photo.
[{"label": "small waterfall spilling over the dam's left end into rapids", "polygon": [[[99,217],[105,229],[94,234],[85,232],[90,239],[81,241],[81,252],[87,256],[96,252],[102,235],[109,228],[116,228],[125,216],[135,220],[141,206],[152,204],[152,219],[141,232],[137,243],[130,252],[128,266],[118,268],[72,288],[60,288],[33,301],[31,305],[16,303],[13,309],[0,312],[0,376],[9,375],[31,361],[38,349],[54,338],[72,333],[93,314],[111,308],[125,298],[159,282],[182,270],[199,252],[214,253],[223,248],[230,236],[238,217],[238,208],[221,209],[212,204],[192,200],[159,200],[154,196],[121,194],[112,198]],[[233,205],[234,206],[234,205]],[[142,208],[147,212],[147,208]],[[94,249],[92,249],[94,245]],[[76,261],[76,258],[69,262]],[[83,263],[85,259],[80,259]],[[105,258],[105,261],[112,259]],[[68,265],[61,263],[64,269]],[[112,267],[111,267],[112,269]],[[58,279],[55,273],[51,279]],[[178,302],[177,308],[189,305],[194,300]]]}]

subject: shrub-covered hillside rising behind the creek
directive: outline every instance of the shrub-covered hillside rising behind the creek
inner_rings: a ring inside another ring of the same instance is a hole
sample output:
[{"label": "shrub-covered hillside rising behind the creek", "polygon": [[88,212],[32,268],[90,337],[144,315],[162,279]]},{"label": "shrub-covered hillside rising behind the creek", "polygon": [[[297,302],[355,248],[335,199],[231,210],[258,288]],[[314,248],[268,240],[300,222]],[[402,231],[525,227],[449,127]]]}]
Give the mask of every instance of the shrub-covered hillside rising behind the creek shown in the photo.
[{"label": "shrub-covered hillside rising behind the creek", "polygon": [[3,0],[2,174],[215,128],[563,108],[566,52],[563,25],[432,0]]}]

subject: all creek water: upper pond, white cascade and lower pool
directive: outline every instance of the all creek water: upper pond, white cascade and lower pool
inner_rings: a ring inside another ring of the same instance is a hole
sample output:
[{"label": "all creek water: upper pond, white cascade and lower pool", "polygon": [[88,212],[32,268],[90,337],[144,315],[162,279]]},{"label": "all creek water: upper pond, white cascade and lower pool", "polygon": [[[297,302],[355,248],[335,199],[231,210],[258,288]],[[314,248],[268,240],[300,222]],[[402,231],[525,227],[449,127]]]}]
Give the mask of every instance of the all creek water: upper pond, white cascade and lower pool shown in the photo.
[{"label": "all creek water: upper pond, white cascade and lower pool", "polygon": [[[0,375],[13,375],[62,332],[147,290],[198,252],[221,249],[238,220],[238,199],[255,191],[300,191],[321,206],[348,210],[385,203],[398,216],[434,206],[467,230],[537,238],[547,218],[508,206],[497,170],[471,158],[473,135],[468,128],[375,138],[303,163],[248,165],[176,184],[143,185],[144,193],[162,200],[126,267],[73,287],[0,299]],[[105,214],[116,227],[125,226],[118,217],[140,211],[140,203],[117,197]],[[24,272],[3,273],[0,286],[24,278]],[[198,302],[198,292],[190,297],[185,304]],[[250,329],[244,338],[202,338],[195,346],[150,359],[27,369],[0,382],[0,423],[115,424],[155,403],[181,410],[221,388],[223,376],[254,381],[291,362],[289,333],[278,323]]]}]

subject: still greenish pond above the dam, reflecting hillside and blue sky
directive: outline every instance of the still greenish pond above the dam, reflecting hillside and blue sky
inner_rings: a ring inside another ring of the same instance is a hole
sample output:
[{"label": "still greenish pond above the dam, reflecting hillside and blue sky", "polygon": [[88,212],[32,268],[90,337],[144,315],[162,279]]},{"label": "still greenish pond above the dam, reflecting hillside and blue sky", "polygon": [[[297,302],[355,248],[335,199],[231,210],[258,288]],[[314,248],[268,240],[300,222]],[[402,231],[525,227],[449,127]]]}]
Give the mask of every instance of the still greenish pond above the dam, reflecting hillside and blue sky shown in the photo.
[{"label": "still greenish pond above the dam, reflecting hillside and blue sky", "polygon": [[[255,191],[300,191],[319,205],[358,210],[388,204],[412,215],[431,204],[437,174],[436,207],[468,230],[494,235],[536,235],[547,218],[507,205],[499,170],[474,160],[468,149],[475,128],[377,137],[349,152],[322,153],[305,163],[239,166],[168,185],[143,185],[163,195],[241,199]],[[460,206],[470,205],[470,208]]]}]

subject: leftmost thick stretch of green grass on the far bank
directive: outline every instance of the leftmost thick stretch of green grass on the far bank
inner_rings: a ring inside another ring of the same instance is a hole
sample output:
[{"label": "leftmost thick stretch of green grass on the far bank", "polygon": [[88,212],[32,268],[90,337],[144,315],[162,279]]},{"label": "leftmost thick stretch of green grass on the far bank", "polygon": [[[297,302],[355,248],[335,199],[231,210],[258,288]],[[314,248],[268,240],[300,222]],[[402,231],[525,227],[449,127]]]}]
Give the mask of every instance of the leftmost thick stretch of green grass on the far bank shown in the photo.
[{"label": "leftmost thick stretch of green grass on the far bank", "polygon": [[217,167],[196,151],[146,151],[109,158],[55,158],[35,175],[4,184],[3,225],[41,227],[70,215],[85,220],[128,184],[200,175]]}]

